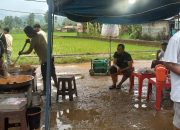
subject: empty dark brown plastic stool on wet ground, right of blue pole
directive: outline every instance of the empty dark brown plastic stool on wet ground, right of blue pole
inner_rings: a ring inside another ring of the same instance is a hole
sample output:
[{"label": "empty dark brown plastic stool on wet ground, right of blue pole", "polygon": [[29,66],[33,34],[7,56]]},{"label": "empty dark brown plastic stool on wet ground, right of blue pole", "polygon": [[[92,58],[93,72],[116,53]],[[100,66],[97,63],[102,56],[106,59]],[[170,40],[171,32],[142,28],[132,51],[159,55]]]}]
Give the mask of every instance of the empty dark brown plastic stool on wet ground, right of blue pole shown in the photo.
[{"label": "empty dark brown plastic stool on wet ground, right of blue pole", "polygon": [[[72,82],[74,87],[72,86]],[[66,95],[69,95],[69,100],[73,101],[73,94],[77,96],[75,77],[73,75],[64,75],[59,77],[56,101],[58,101],[59,95],[62,95],[63,99],[65,99]]]}]

